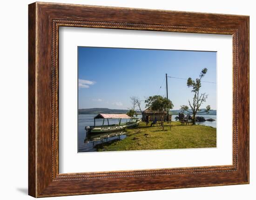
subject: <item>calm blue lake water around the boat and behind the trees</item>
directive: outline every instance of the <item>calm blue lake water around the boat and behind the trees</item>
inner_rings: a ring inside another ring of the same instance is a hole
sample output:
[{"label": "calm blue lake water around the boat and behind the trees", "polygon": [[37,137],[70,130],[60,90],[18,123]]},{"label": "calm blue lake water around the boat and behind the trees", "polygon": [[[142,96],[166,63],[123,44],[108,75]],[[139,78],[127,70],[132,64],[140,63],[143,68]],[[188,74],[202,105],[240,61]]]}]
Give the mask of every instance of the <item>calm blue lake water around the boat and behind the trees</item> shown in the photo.
[{"label": "calm blue lake water around the boat and behind the trees", "polygon": [[[99,134],[99,135],[92,135],[89,136],[86,134],[85,127],[86,126],[94,126],[94,116],[96,115],[78,115],[78,152],[94,152],[97,151],[95,148],[96,144],[100,144],[102,142],[109,142],[113,140],[123,140],[126,138],[126,132],[120,131],[120,132],[109,132],[105,134]],[[175,121],[175,117],[177,115],[172,116],[172,121]],[[215,119],[216,115],[200,115],[203,116],[205,119]],[[141,115],[137,116],[138,118],[141,118]],[[128,122],[129,119],[122,119],[121,123]],[[101,119],[95,120],[96,126],[102,125]],[[109,119],[109,124],[116,124],[118,123],[118,119]],[[216,121],[214,122],[201,122],[197,123],[205,126],[212,126],[216,128]],[[105,122],[105,125],[107,125],[107,122]]]}]

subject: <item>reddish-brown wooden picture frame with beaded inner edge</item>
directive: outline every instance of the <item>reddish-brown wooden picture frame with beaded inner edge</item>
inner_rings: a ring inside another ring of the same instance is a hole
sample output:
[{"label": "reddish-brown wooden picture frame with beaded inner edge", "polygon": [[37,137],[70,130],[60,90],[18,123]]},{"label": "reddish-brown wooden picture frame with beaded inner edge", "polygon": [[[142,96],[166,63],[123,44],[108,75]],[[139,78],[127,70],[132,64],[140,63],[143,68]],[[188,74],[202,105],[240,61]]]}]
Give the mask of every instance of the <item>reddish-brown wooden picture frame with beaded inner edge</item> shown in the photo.
[{"label": "reddish-brown wooden picture frame with beaded inner edge", "polygon": [[[29,195],[249,184],[249,16],[35,2],[28,6],[28,25]],[[60,174],[61,26],[232,35],[233,164]]]}]

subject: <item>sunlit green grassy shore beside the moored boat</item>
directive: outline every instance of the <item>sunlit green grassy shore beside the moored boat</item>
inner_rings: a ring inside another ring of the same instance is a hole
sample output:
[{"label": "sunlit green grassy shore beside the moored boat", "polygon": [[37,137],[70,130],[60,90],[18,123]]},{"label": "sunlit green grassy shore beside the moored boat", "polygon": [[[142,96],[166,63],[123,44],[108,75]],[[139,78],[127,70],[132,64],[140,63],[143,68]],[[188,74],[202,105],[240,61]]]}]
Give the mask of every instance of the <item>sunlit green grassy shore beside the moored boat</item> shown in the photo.
[{"label": "sunlit green grassy shore beside the moored boat", "polygon": [[121,141],[97,145],[98,151],[151,150],[171,148],[216,147],[216,128],[203,125],[181,125],[172,122],[162,127],[149,127],[146,123],[127,129],[127,137]]}]

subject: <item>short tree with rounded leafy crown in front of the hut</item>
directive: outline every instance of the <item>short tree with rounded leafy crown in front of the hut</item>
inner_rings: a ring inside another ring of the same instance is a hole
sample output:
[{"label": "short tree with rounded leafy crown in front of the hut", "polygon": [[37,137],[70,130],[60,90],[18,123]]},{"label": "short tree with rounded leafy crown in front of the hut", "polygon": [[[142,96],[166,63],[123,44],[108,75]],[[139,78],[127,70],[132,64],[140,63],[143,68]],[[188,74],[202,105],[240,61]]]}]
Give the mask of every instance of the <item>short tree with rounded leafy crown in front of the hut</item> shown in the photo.
[{"label": "short tree with rounded leafy crown in front of the hut", "polygon": [[155,95],[153,97],[148,97],[148,99],[145,100],[146,108],[150,108],[152,111],[158,111],[161,113],[161,123],[162,123],[162,129],[164,129],[163,126],[163,118],[165,112],[168,112],[170,109],[173,108],[173,103],[166,97],[162,97],[159,95]]}]

